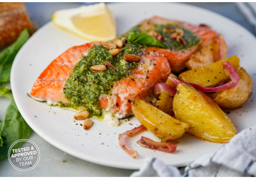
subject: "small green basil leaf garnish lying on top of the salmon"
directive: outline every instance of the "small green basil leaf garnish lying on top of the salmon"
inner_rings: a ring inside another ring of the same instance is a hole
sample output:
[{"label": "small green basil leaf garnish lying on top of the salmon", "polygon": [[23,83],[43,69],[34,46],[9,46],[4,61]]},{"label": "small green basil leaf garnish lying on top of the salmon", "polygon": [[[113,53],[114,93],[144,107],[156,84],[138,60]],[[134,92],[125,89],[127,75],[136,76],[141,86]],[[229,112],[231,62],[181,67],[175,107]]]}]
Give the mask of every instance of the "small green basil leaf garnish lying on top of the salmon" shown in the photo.
[{"label": "small green basil leaf garnish lying on top of the salmon", "polygon": [[139,34],[138,32],[132,32],[131,34],[129,34],[127,40],[130,42],[139,43],[139,44],[143,44],[143,45],[168,48],[167,45],[160,43],[156,39],[156,37],[153,37],[146,33]]}]

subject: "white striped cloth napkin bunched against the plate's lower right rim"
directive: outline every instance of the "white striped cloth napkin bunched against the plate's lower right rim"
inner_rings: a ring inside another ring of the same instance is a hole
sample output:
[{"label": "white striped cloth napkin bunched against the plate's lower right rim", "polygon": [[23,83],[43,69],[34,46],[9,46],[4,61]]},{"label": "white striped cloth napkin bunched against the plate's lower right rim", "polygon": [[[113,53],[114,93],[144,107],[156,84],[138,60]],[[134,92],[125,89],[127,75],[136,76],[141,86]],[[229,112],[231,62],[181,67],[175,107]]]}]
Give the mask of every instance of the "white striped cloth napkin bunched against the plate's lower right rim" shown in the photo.
[{"label": "white striped cloth napkin bunched against the plate's lower right rim", "polygon": [[147,158],[131,176],[256,176],[256,126],[245,129],[217,152],[192,162],[183,172]]}]

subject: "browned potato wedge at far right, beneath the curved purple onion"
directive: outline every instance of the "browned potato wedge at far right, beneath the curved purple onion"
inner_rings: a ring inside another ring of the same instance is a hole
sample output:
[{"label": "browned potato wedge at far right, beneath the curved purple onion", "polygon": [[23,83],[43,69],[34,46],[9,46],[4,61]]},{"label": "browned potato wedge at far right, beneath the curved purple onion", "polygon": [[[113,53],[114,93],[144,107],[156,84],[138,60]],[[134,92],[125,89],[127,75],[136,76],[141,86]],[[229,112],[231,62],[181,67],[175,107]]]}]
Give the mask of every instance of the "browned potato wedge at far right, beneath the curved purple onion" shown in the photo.
[{"label": "browned potato wedge at far right, beneath the curved purple onion", "polygon": [[221,108],[237,108],[244,105],[250,97],[253,88],[253,80],[244,68],[240,68],[237,73],[240,80],[235,88],[207,94]]}]

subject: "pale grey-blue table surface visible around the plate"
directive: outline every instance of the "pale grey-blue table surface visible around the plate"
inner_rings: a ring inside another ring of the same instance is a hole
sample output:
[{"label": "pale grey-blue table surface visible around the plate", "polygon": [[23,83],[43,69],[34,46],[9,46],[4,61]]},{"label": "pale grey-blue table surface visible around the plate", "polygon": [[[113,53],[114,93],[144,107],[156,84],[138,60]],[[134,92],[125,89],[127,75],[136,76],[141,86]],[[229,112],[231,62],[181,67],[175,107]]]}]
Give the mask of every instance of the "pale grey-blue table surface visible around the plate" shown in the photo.
[{"label": "pale grey-blue table surface visible around the plate", "polygon": [[[38,27],[44,26],[51,14],[58,9],[79,7],[83,3],[26,3],[30,19]],[[234,3],[189,3],[222,14],[241,24],[254,35],[253,27],[247,23]],[[0,119],[3,119],[9,99],[0,97]],[[19,171],[11,166],[8,158],[0,160],[0,176],[130,176],[135,170],[125,170],[97,165],[71,156],[55,148],[34,131],[29,140],[35,142],[40,150],[38,165],[29,171]],[[25,144],[26,145],[26,144]]]}]

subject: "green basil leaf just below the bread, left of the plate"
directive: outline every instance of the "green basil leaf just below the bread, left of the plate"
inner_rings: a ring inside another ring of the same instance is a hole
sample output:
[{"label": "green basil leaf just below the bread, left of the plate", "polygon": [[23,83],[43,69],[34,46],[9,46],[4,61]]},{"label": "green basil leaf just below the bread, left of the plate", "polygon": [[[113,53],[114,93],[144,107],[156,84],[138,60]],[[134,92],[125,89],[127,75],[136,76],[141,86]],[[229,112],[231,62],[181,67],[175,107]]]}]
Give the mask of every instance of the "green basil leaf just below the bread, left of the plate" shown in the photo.
[{"label": "green basil leaf just below the bread, left of the plate", "polygon": [[0,83],[10,82],[10,72],[12,67],[12,62],[22,47],[22,45],[29,39],[29,29],[24,29],[20,36],[17,38],[15,43],[5,48],[0,53]]}]

